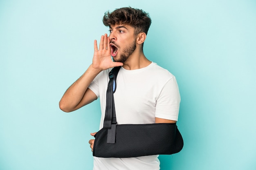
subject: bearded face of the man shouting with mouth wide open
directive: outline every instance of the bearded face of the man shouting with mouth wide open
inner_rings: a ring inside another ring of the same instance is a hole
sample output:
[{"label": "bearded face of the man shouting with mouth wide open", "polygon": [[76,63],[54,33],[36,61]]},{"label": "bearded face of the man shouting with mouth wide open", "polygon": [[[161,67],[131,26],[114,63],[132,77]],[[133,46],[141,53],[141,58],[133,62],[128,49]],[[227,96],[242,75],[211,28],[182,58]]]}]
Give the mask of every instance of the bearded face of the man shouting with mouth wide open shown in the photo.
[{"label": "bearded face of the man shouting with mouth wide open", "polygon": [[111,55],[116,62],[125,62],[136,49],[134,28],[128,25],[110,26]]}]

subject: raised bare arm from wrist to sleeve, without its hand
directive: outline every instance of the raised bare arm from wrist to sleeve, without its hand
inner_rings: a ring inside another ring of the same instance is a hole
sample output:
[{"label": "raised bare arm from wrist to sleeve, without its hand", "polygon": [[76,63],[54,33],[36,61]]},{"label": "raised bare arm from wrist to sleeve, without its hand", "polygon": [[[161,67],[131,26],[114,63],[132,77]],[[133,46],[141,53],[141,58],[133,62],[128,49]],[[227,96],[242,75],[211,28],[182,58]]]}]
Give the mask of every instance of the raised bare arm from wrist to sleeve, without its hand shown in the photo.
[{"label": "raised bare arm from wrist to sleeve, without its hand", "polygon": [[[64,93],[59,107],[65,112],[71,112],[76,110],[78,105],[84,106],[91,102],[92,96],[85,96],[85,92],[92,82],[92,80],[101,72],[99,69],[95,69],[92,65],[83,73],[83,75],[76,80]],[[83,99],[87,97],[87,99]],[[83,99],[83,100],[82,100]],[[83,104],[81,104],[83,102]]]}]

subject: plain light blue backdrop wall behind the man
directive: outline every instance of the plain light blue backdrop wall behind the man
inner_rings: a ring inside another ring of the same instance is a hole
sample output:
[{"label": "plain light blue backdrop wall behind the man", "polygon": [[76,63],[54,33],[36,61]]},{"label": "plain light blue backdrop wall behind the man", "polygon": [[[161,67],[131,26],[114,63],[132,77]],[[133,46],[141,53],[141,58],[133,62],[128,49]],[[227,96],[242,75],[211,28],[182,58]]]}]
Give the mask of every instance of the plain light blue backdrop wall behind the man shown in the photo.
[{"label": "plain light blue backdrop wall behind the man", "polygon": [[58,102],[92,62],[107,11],[150,13],[144,52],[173,73],[184,148],[161,170],[256,169],[254,0],[0,0],[0,170],[91,170],[99,101]]}]

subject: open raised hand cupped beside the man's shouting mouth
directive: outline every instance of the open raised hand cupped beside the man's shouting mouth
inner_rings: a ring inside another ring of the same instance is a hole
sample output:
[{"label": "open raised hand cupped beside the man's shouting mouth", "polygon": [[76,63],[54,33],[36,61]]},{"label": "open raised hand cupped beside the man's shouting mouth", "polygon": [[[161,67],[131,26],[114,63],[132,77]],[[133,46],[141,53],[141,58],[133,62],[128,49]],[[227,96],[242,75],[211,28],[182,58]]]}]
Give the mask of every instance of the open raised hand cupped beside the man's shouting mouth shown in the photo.
[{"label": "open raised hand cupped beside the man's shouting mouth", "polygon": [[121,62],[113,62],[111,59],[110,39],[108,35],[101,35],[101,41],[99,43],[99,49],[97,46],[97,40],[94,40],[94,55],[92,59],[92,67],[99,70],[106,70],[108,68],[122,66]]}]

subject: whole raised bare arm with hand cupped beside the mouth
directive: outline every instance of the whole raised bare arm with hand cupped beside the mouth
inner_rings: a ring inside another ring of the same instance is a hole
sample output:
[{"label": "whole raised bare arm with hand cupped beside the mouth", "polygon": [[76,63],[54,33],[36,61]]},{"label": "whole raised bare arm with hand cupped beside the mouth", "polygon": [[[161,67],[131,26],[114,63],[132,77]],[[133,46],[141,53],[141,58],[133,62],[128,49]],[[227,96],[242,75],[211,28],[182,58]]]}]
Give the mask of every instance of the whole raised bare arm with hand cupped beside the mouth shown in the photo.
[{"label": "whole raised bare arm with hand cupped beside the mouth", "polygon": [[87,71],[74,82],[64,93],[59,107],[65,112],[71,112],[97,99],[97,96],[88,89],[92,80],[102,71],[115,66],[122,66],[121,62],[113,62],[111,59],[110,39],[107,34],[101,36],[99,49],[94,40],[94,55],[92,64]]}]

